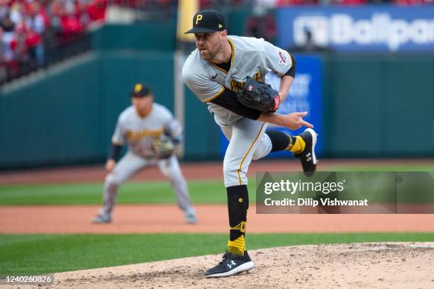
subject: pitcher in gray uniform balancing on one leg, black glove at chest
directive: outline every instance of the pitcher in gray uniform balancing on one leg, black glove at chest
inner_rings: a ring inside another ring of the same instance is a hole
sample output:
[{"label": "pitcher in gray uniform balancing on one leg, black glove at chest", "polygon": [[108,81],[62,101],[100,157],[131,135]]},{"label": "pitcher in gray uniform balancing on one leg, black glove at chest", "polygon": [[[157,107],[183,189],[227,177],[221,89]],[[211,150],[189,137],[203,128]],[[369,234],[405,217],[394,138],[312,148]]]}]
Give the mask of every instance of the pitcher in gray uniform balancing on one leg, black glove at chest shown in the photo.
[{"label": "pitcher in gray uniform balancing on one leg, black glove at chest", "polygon": [[[215,10],[196,13],[193,28],[186,33],[194,33],[197,48],[182,69],[184,81],[201,101],[208,103],[208,110],[230,140],[223,161],[230,226],[228,249],[223,260],[208,269],[205,276],[231,276],[254,267],[245,250],[249,206],[247,169],[250,162],[267,156],[269,152],[286,149],[300,158],[305,174],[311,175],[317,162],[314,152],[316,132],[310,123],[303,120],[306,112],[289,115],[268,112],[277,110],[294,81],[295,60],[288,52],[263,39],[228,36],[225,19]],[[281,81],[278,91],[273,90],[274,97],[270,98],[272,106],[267,112],[261,112],[246,103],[255,103],[253,98],[248,98],[250,92],[262,94],[270,90],[266,84],[257,82],[265,79],[268,73],[276,74]],[[261,88],[257,89],[259,86]],[[243,98],[240,98],[240,92]],[[240,102],[242,99],[244,104]],[[292,137],[284,132],[265,133],[267,123],[291,130],[301,126],[308,129]]]}]

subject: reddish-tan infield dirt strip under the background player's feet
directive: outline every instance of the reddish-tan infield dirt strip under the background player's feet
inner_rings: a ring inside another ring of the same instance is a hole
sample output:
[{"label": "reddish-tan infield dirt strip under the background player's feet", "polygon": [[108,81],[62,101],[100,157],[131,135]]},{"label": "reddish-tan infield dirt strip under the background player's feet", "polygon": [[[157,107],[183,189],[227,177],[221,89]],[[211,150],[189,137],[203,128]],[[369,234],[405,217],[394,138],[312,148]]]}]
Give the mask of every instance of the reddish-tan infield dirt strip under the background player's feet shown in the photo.
[{"label": "reddish-tan infield dirt strip under the background player's feet", "polygon": [[[0,209],[0,233],[162,233],[228,232],[226,205],[197,205],[199,222],[188,225],[176,205],[118,205],[111,224],[96,225],[96,205],[16,206]],[[425,215],[247,215],[247,231],[272,232],[433,232],[434,214]]]}]

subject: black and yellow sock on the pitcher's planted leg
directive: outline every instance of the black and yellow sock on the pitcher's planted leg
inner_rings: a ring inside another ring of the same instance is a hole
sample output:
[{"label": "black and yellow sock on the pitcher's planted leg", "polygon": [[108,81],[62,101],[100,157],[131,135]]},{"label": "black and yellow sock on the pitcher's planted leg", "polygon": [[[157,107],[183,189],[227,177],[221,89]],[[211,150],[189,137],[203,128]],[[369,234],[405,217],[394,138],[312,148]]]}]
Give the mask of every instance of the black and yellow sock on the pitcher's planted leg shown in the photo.
[{"label": "black and yellow sock on the pitcher's planted leg", "polygon": [[245,225],[249,208],[247,186],[230,186],[228,193],[229,241],[228,251],[243,256],[245,250]]}]

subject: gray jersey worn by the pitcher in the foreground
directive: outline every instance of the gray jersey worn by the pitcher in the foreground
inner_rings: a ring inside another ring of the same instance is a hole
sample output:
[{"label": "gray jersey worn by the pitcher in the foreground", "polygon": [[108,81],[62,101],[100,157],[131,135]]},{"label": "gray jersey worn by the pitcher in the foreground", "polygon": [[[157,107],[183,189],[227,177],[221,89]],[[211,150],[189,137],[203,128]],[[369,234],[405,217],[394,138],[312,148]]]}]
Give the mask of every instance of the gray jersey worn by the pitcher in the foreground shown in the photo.
[{"label": "gray jersey worn by the pitcher in the foreground", "polygon": [[268,72],[282,77],[292,67],[291,57],[286,50],[262,38],[230,35],[228,41],[232,47],[228,73],[215,64],[202,60],[197,49],[191,52],[182,69],[182,76],[189,89],[201,101],[208,102],[208,110],[216,114],[216,120],[226,120],[226,124],[240,119],[241,116],[228,113],[226,108],[209,103],[213,98],[220,96],[225,87],[236,92],[243,89],[247,76],[263,81]]}]

